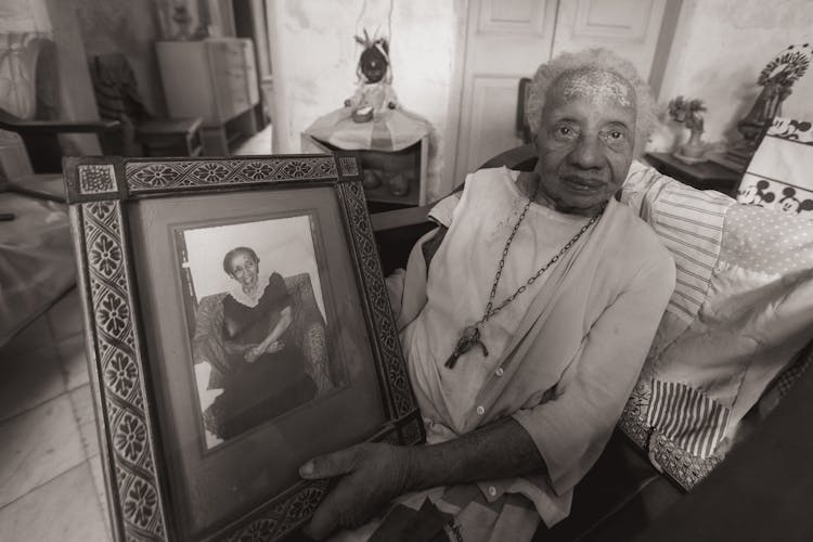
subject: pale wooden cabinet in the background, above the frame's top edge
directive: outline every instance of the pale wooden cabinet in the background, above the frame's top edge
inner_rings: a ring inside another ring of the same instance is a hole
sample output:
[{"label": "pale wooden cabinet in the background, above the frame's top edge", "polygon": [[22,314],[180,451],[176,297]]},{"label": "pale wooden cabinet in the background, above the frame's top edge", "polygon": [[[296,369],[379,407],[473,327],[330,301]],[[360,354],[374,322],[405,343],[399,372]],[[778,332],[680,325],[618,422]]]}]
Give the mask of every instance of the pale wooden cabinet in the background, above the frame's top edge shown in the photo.
[{"label": "pale wooden cabinet in the background, above the frame's top edge", "polygon": [[203,117],[204,154],[229,154],[230,143],[257,131],[250,39],[158,41],[155,49],[169,116]]}]

